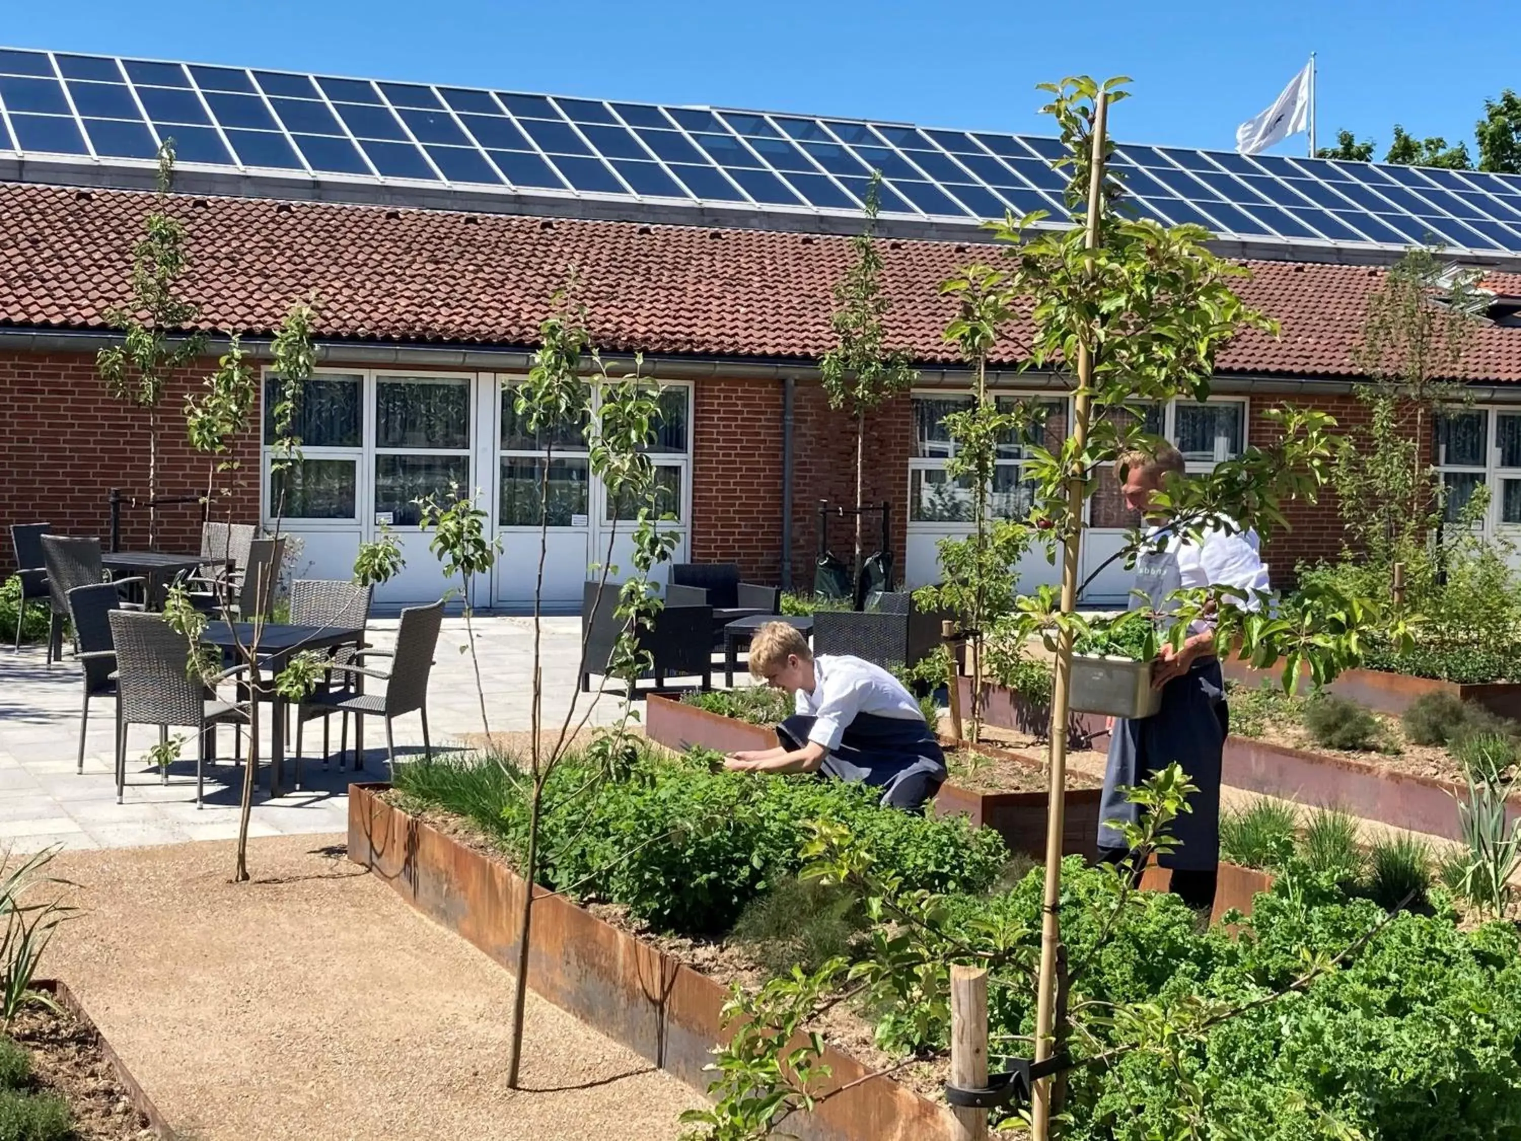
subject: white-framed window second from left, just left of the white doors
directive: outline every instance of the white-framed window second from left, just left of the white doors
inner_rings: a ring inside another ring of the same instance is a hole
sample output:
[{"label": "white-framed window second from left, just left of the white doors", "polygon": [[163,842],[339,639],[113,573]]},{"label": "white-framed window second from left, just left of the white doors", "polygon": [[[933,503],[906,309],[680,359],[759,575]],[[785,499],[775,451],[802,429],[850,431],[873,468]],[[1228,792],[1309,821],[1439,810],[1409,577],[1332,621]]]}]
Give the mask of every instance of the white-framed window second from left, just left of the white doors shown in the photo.
[{"label": "white-framed window second from left, just left of the white doors", "polygon": [[470,493],[470,377],[376,377],[376,514],[423,520],[415,501]]}]

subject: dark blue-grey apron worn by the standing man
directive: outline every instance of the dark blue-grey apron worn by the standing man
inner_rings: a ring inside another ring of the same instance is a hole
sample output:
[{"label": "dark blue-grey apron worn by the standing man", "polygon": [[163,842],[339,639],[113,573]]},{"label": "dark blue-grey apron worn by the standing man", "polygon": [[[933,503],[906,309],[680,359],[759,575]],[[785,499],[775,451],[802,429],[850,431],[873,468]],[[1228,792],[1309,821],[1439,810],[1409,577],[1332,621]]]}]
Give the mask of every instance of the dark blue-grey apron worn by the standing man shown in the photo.
[{"label": "dark blue-grey apron worn by the standing man", "polygon": [[[1136,560],[1135,604],[1167,610],[1167,598],[1182,586],[1177,555],[1147,551]],[[1115,718],[1109,738],[1109,765],[1100,805],[1098,846],[1124,849],[1124,835],[1110,820],[1135,823],[1139,809],[1126,790],[1142,783],[1173,761],[1182,765],[1199,791],[1188,797],[1191,812],[1180,812],[1168,831],[1177,847],[1157,858],[1162,867],[1212,872],[1220,864],[1220,755],[1229,729],[1220,662],[1197,662],[1183,677],[1162,688],[1162,707],[1141,720]]]}]

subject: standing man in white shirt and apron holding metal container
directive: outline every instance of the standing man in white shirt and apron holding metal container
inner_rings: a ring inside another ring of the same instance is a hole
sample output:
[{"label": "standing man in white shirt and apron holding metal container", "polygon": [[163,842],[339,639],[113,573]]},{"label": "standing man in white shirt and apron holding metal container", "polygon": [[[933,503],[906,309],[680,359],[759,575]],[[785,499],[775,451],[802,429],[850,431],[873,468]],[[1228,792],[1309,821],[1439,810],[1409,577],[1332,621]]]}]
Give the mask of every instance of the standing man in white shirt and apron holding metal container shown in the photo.
[{"label": "standing man in white shirt and apron holding metal container", "polygon": [[[1164,520],[1153,516],[1151,505],[1168,473],[1177,478],[1185,473],[1183,456],[1171,446],[1119,461],[1126,504],[1153,523],[1147,546],[1136,557],[1130,607],[1165,615],[1176,609],[1171,595],[1191,587],[1267,590],[1267,567],[1255,531],[1209,529],[1197,540],[1162,531]],[[1100,806],[1100,858],[1119,861],[1127,853],[1124,835],[1109,826],[1112,820],[1136,820],[1136,805],[1129,803],[1126,790],[1177,761],[1199,791],[1188,799],[1192,811],[1180,814],[1171,826],[1177,849],[1157,863],[1173,869],[1176,895],[1192,907],[1208,908],[1215,898],[1220,864],[1220,758],[1230,726],[1214,625],[1196,621],[1182,648],[1164,645],[1151,663],[1151,685],[1162,691],[1162,707],[1153,717],[1113,721]]]}]

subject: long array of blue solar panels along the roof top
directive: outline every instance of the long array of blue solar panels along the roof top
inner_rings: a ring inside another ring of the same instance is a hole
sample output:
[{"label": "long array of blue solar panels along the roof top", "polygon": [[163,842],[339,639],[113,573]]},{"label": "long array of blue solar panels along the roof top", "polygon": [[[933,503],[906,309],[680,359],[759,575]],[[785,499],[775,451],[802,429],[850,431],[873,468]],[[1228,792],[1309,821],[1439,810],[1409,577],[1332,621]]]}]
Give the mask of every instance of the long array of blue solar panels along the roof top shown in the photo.
[{"label": "long array of blue solar panels along the roof top", "polygon": [[[0,49],[0,157],[972,225],[1065,216],[1060,143],[762,111]],[[1521,178],[1121,146],[1130,208],[1246,242],[1521,253]]]}]

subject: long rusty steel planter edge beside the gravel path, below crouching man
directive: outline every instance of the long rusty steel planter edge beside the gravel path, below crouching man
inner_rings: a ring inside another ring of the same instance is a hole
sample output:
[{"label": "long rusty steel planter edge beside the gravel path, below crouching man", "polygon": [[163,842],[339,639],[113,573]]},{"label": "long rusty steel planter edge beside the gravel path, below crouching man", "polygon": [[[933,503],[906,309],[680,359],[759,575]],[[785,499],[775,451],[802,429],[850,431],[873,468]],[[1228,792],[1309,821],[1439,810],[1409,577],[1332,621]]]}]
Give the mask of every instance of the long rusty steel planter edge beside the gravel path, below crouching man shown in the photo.
[{"label": "long rusty steel planter edge beside the gravel path, below crouching man", "polygon": [[[511,969],[523,879],[388,805],[379,796],[386,788],[350,785],[348,858]],[[703,1066],[724,1038],[726,987],[545,888],[535,888],[531,943],[528,983],[538,995],[706,1092]],[[870,1073],[832,1048],[824,1060],[834,1068],[829,1088]],[[805,1141],[949,1141],[952,1124],[934,1101],[873,1077],[786,1127]]]}]

